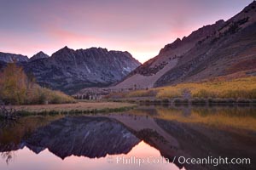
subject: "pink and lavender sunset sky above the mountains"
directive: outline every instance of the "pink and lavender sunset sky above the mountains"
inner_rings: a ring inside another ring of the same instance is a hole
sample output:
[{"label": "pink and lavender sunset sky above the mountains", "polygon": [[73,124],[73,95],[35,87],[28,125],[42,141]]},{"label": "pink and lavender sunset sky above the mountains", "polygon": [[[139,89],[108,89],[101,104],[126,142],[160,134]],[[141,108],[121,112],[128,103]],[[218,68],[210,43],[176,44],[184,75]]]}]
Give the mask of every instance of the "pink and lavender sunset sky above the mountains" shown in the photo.
[{"label": "pink and lavender sunset sky above the mountains", "polygon": [[0,51],[128,51],[140,62],[177,37],[228,20],[253,0],[0,0]]}]

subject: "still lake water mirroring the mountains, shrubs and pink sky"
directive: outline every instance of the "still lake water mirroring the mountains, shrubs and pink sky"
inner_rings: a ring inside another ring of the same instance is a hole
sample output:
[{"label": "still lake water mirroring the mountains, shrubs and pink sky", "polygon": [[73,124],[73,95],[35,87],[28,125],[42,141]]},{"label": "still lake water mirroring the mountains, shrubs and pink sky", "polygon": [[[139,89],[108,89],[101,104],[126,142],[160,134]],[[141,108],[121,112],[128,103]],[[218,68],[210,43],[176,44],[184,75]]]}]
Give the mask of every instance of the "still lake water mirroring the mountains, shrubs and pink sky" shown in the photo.
[{"label": "still lake water mirroring the mountains, shrubs and pink sky", "polygon": [[[0,169],[256,169],[255,144],[252,106],[26,116],[0,122]],[[240,164],[218,161],[220,156]],[[243,158],[250,163],[242,164]]]}]

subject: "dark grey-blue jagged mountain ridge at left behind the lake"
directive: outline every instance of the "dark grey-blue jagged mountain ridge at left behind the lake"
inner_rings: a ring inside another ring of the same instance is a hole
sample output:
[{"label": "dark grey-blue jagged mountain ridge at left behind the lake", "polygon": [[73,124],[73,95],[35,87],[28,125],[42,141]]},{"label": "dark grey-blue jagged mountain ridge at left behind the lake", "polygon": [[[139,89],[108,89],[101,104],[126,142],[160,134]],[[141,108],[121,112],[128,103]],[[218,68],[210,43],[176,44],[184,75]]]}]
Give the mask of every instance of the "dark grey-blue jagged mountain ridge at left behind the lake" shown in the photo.
[{"label": "dark grey-blue jagged mountain ridge at left behind the lake", "polygon": [[[3,57],[2,57],[3,56]],[[50,57],[39,52],[28,59],[23,55],[0,54],[0,68],[17,62],[26,73],[47,88],[74,94],[81,88],[106,87],[119,82],[141,65],[130,53],[107,48],[61,48]]]}]

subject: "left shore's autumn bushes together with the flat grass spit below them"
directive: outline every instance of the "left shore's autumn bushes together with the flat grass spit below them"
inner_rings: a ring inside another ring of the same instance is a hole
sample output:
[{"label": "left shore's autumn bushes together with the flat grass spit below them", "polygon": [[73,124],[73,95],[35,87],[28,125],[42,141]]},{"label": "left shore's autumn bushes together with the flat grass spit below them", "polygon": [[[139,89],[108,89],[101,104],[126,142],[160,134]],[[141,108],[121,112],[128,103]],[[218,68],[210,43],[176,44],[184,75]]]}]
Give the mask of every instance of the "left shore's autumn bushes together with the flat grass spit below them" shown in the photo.
[{"label": "left shore's autumn bushes together with the flat grass spit below them", "polygon": [[[9,63],[0,72],[0,118],[16,116],[73,115],[128,111],[135,104],[106,101],[77,101],[60,91],[40,87],[33,75],[26,74],[16,63]],[[14,111],[14,114],[9,111]]]}]

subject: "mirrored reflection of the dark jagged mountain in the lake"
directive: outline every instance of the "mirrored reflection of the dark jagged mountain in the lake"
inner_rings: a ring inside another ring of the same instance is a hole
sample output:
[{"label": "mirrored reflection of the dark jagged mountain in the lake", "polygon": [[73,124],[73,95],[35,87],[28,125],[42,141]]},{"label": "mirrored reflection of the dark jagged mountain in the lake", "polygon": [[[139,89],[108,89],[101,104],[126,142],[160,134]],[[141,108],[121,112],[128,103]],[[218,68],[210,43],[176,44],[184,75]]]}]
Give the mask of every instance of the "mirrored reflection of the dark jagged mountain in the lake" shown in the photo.
[{"label": "mirrored reflection of the dark jagged mountain in the lake", "polygon": [[139,139],[125,126],[108,117],[65,117],[38,128],[24,142],[36,153],[44,148],[64,159],[67,156],[99,158],[128,153]]}]

